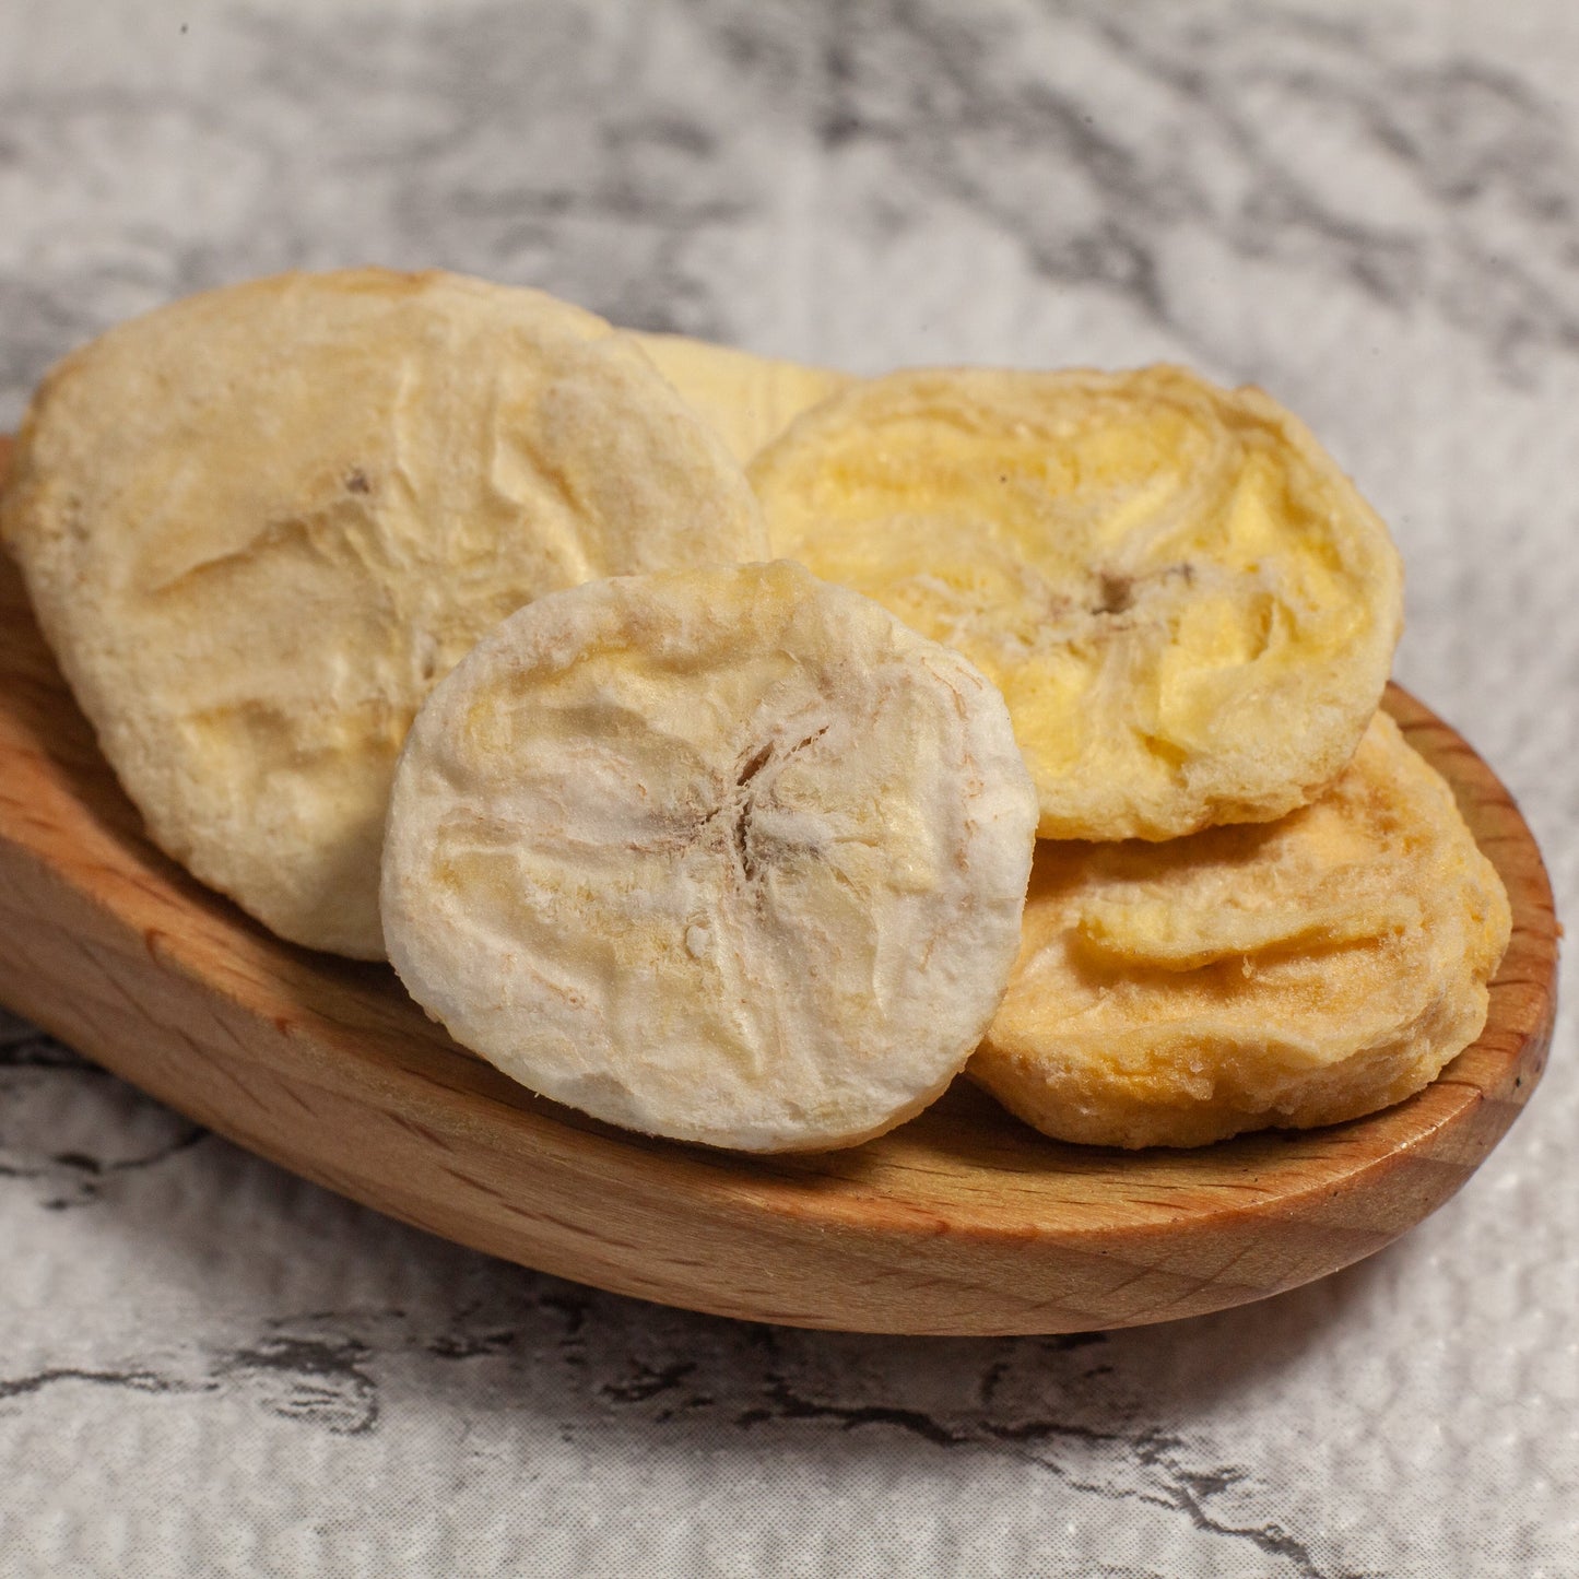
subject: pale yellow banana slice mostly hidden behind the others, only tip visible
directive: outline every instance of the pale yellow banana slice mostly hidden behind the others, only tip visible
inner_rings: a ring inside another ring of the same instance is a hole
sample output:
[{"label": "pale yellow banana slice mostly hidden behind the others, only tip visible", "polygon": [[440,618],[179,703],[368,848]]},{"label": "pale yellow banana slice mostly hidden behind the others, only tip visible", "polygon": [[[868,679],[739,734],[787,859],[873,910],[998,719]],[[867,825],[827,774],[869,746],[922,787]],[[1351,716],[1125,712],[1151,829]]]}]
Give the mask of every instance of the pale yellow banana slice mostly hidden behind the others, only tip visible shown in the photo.
[{"label": "pale yellow banana slice mostly hidden behind the others, only tip visible", "polygon": [[801,412],[853,382],[848,373],[756,357],[684,335],[633,338],[742,463],[777,439]]}]

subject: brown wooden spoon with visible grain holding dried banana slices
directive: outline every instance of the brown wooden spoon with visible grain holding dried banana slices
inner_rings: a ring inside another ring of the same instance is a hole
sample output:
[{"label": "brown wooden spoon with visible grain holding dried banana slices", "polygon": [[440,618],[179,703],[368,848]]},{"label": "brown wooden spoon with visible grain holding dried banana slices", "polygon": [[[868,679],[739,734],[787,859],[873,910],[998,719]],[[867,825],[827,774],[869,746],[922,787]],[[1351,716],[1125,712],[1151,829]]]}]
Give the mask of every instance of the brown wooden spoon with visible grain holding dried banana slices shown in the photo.
[{"label": "brown wooden spoon with visible grain holding dried banana slices", "polygon": [[[5,452],[0,441],[0,474]],[[1541,1074],[1557,925],[1491,771],[1405,693],[1513,898],[1491,1022],[1386,1113],[1200,1151],[1044,1140],[965,1082],[851,1151],[622,1134],[508,1082],[384,966],[278,941],[142,835],[0,557],[0,1001],[232,1140],[406,1222],[669,1304],[802,1326],[1060,1333],[1307,1282],[1445,1202]]]}]

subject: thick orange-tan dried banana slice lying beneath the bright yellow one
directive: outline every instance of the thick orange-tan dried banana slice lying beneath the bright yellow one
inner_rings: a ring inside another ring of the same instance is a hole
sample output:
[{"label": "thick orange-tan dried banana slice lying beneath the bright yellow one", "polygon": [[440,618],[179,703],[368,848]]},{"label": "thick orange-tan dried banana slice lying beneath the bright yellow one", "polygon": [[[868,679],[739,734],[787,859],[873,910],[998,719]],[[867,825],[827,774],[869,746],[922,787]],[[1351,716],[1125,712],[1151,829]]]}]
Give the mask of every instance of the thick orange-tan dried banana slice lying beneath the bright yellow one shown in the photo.
[{"label": "thick orange-tan dried banana slice lying beneath the bright yellow one", "polygon": [[1094,1145],[1355,1118],[1480,1036],[1510,925],[1451,790],[1377,714],[1336,783],[1279,823],[1039,845],[970,1074]]}]

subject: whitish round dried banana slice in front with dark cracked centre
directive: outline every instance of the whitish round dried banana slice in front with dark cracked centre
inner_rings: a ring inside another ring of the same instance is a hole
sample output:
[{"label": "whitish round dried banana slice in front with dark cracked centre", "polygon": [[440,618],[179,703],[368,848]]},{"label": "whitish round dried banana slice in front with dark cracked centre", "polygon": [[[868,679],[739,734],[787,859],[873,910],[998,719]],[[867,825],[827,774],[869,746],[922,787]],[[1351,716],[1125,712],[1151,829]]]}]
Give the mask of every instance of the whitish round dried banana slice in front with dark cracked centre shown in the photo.
[{"label": "whitish round dried banana slice in front with dark cracked centre", "polygon": [[745,1151],[925,1107],[1020,936],[1036,794],[958,654],[793,564],[545,597],[417,717],[390,958],[554,1101]]}]

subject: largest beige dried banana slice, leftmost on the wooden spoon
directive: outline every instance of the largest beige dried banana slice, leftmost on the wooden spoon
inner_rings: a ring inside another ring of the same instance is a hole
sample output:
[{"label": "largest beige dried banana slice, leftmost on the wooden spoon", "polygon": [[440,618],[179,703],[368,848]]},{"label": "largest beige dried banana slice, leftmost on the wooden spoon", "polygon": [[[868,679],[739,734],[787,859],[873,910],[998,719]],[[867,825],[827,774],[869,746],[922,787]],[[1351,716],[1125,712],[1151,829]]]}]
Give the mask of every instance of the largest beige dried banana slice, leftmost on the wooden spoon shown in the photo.
[{"label": "largest beige dried banana slice, leftmost on the wooden spoon", "polygon": [[281,936],[366,958],[433,682],[543,592],[766,545],[627,336],[374,268],[213,291],[68,357],[0,532],[152,837]]}]

